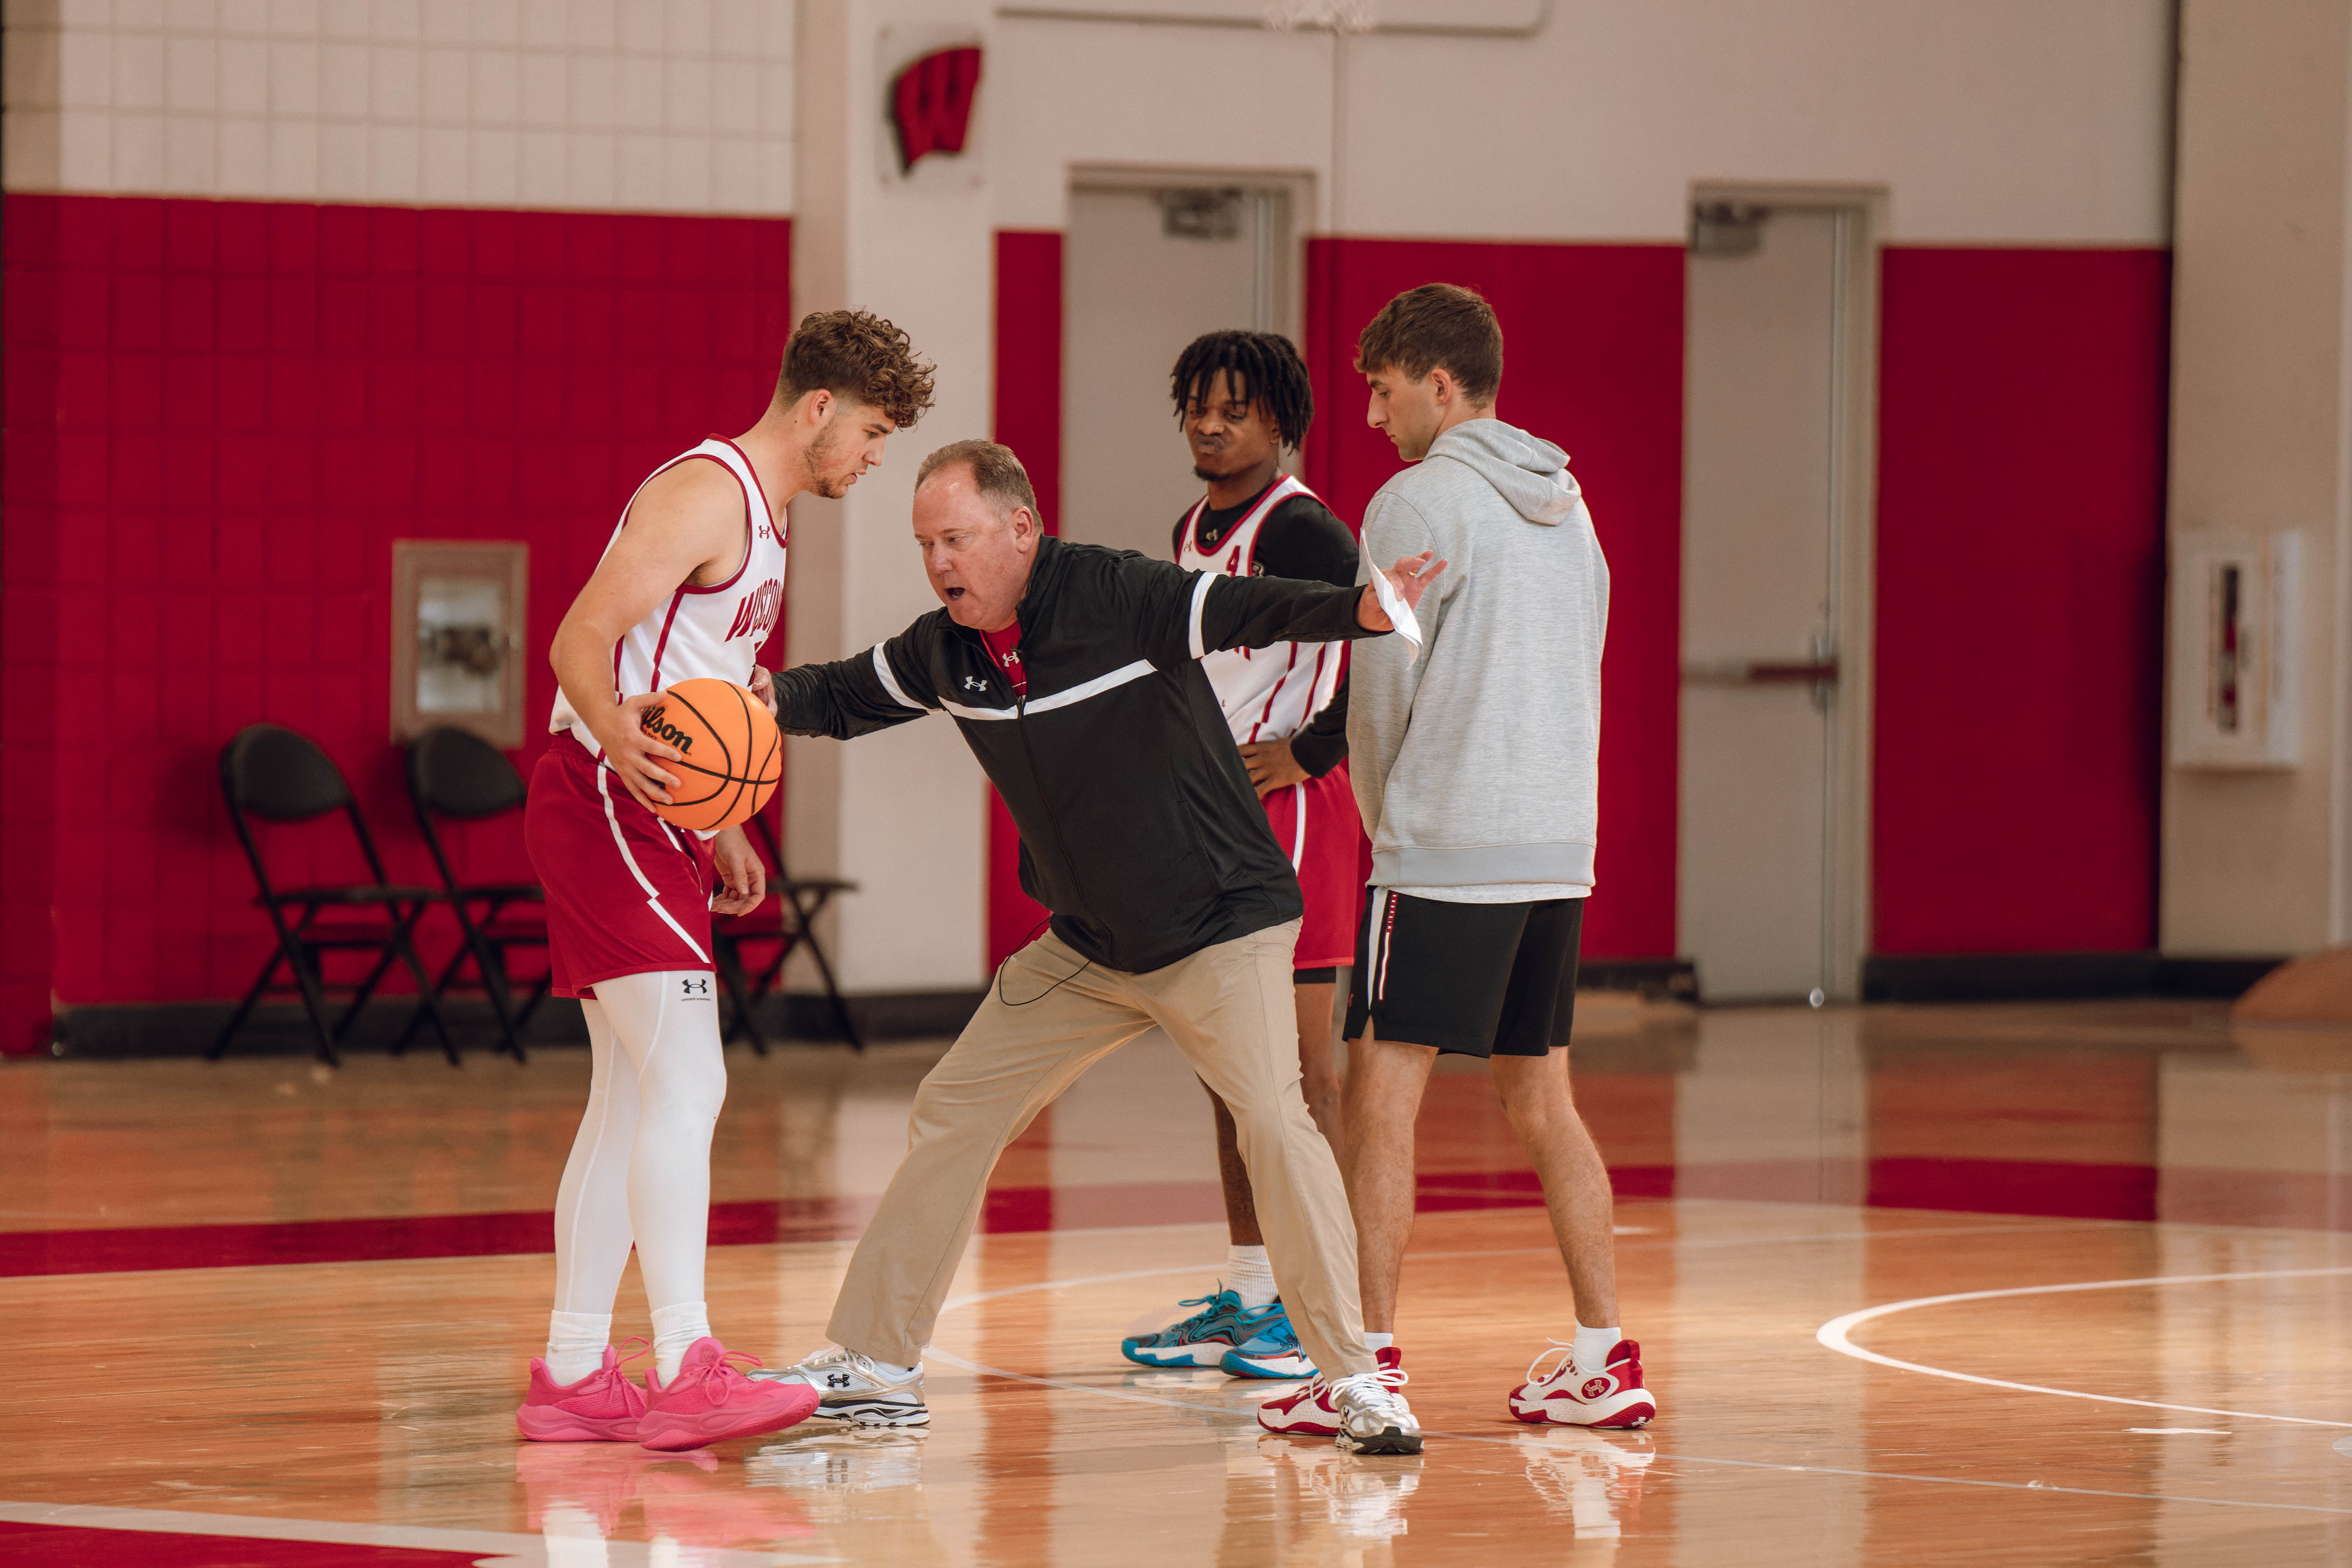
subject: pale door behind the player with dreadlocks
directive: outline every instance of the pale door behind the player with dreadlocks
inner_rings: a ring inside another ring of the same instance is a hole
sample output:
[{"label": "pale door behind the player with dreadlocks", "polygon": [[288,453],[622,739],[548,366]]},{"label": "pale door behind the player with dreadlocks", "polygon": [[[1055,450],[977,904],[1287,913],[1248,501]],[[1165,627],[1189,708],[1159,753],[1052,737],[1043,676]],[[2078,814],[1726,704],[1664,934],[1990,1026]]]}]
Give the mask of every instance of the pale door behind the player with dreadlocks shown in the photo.
[{"label": "pale door behind the player with dreadlocks", "polygon": [[1202,491],[1169,371],[1204,331],[1289,331],[1289,200],[1223,186],[1080,186],[1063,247],[1058,529],[1167,557],[1176,520]]}]

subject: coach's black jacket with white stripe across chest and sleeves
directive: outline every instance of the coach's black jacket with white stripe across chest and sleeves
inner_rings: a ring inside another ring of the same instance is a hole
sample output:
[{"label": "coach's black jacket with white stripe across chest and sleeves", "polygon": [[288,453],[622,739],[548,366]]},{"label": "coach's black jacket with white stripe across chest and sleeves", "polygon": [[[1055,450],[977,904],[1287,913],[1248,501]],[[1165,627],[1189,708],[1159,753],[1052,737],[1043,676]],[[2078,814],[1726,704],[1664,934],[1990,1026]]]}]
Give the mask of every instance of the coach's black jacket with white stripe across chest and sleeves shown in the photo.
[{"label": "coach's black jacket with white stripe across chest and sleeves", "polygon": [[1021,827],[1021,886],[1077,952],[1145,973],[1298,919],[1298,877],[1202,654],[1371,637],[1359,588],[1183,571],[1037,541],[1021,597],[1028,698],[946,609],[870,654],[776,675],[795,736],[847,741],[946,710]]}]

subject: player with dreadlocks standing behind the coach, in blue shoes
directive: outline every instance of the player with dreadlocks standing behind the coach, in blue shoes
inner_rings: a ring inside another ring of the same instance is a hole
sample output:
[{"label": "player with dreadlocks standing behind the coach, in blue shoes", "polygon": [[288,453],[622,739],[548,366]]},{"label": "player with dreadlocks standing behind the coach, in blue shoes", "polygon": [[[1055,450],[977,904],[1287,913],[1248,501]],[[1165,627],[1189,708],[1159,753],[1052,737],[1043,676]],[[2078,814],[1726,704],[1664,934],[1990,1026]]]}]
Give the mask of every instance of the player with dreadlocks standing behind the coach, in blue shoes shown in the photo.
[{"label": "player with dreadlocks standing behind the coach, in blue shoes", "polygon": [[[1294,475],[1315,423],[1308,367],[1272,331],[1211,331],[1192,341],[1169,378],[1176,418],[1192,447],[1192,475],[1209,484],[1176,522],[1176,562],[1228,576],[1291,576],[1348,588],[1357,543]],[[1305,924],[1291,959],[1298,1004],[1298,1070],[1308,1112],[1341,1147],[1338,1070],[1331,1063],[1331,992],[1355,957],[1364,898],[1364,827],[1348,783],[1345,644],[1277,642],[1202,661],[1265,804],[1275,842],[1298,872]],[[1214,1093],[1216,1161],[1225,1182],[1232,1251],[1223,1284],[1190,1316],[1120,1349],[1143,1366],[1221,1366],[1235,1378],[1310,1378],[1258,1232],[1258,1208],[1242,1164],[1232,1114]]]}]

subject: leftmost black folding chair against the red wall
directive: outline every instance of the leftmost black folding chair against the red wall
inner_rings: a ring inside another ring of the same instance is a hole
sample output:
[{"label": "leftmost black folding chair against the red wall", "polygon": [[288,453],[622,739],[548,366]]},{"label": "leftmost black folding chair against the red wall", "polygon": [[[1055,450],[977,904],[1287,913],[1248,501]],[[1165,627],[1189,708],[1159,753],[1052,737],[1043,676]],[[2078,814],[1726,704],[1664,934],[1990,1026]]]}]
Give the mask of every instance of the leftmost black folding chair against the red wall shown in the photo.
[{"label": "leftmost black folding chair against the red wall", "polygon": [[[254,903],[268,912],[270,926],[278,931],[278,952],[261,966],[261,976],[245,992],[245,1001],[221,1025],[219,1037],[205,1053],[207,1060],[221,1060],[263,994],[296,992],[310,1013],[310,1027],[318,1030],[320,1060],[339,1067],[336,1046],[343,1044],[343,1034],[360,1016],[360,1009],[367,1006],[367,999],[376,994],[376,983],[383,980],[383,973],[400,961],[416,976],[416,1016],[433,1025],[433,1032],[442,1041],[442,1053],[454,1067],[459,1060],[456,1046],[449,1041],[449,1030],[442,1027],[440,1011],[433,1006],[433,983],[426,978],[426,966],[416,959],[416,947],[409,943],[416,919],[426,912],[426,905],[440,903],[442,893],[423,886],[395,886],[383,879],[383,860],[376,856],[376,842],[367,832],[367,818],[360,816],[360,802],[353,799],[350,785],[343,783],[341,769],[327,759],[327,752],[280,724],[249,724],[221,748],[221,797],[228,802],[228,820],[238,825],[238,842],[245,844],[245,858],[254,867],[254,884],[261,889]],[[360,853],[376,879],[348,886],[270,886],[270,872],[261,860],[261,844],[254,837],[252,818],[266,823],[308,823],[329,811],[343,811],[350,818],[350,832],[360,839]],[[322,959],[329,952],[376,954],[376,966],[367,971],[365,980],[348,987],[353,992],[350,1006],[332,1025],[327,1023],[327,992],[346,987],[327,983]],[[294,976],[294,985],[275,985],[280,966]],[[407,1032],[400,1039],[407,1044]]]}]

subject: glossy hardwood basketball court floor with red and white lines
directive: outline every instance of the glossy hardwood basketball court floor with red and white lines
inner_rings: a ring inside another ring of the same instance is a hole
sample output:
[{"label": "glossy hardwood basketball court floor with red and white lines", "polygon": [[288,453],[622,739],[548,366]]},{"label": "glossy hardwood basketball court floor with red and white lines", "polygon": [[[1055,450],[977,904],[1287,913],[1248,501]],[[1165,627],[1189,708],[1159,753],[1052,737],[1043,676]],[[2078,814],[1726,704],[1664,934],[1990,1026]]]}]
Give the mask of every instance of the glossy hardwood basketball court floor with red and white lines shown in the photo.
[{"label": "glossy hardwood basketball court floor with red and white lines", "polygon": [[[1258,1436],[1261,1387],[1117,1356],[1223,1255],[1164,1044],[997,1171],[929,1434],[687,1458],[513,1439],[583,1053],[0,1067],[0,1561],[2352,1561],[2352,1039],[2187,1004],[1581,1006],[1661,1420],[1503,1413],[1571,1314],[1491,1091],[1449,1072],[1399,1335],[1418,1460]],[[731,1058],[731,1345],[821,1342],[934,1056]]]}]

